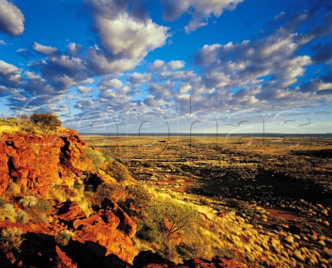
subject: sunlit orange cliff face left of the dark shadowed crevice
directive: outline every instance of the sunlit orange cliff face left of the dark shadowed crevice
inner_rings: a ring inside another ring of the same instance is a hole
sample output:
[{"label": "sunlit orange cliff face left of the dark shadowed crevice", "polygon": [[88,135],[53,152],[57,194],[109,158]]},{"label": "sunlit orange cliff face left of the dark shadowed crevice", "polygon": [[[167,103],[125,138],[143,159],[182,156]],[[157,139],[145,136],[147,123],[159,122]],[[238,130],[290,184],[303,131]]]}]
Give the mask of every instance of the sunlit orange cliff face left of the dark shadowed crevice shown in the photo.
[{"label": "sunlit orange cliff face left of the dark shadowed crevice", "polygon": [[2,135],[0,140],[0,193],[15,182],[41,193],[59,180],[60,148],[64,142],[55,136]]}]

